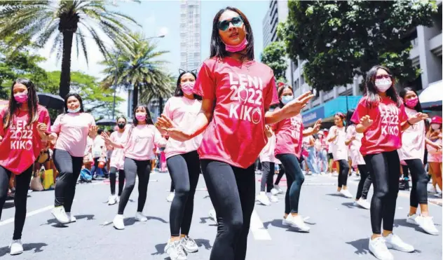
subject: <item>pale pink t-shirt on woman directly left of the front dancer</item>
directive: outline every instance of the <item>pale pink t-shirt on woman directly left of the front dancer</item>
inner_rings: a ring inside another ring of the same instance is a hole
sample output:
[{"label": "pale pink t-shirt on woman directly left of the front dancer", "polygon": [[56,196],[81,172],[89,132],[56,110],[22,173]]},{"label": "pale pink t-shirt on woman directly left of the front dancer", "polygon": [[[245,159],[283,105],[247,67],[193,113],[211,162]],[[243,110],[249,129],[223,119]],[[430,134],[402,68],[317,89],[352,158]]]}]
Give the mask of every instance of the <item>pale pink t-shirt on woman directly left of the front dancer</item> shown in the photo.
[{"label": "pale pink t-shirt on woman directly left of the front dancer", "polygon": [[[168,116],[180,129],[187,130],[195,124],[200,109],[200,100],[190,100],[187,97],[171,97],[165,104],[163,114]],[[196,151],[202,138],[202,135],[198,135],[185,142],[179,142],[172,138],[168,139],[165,149],[166,158]]]}]

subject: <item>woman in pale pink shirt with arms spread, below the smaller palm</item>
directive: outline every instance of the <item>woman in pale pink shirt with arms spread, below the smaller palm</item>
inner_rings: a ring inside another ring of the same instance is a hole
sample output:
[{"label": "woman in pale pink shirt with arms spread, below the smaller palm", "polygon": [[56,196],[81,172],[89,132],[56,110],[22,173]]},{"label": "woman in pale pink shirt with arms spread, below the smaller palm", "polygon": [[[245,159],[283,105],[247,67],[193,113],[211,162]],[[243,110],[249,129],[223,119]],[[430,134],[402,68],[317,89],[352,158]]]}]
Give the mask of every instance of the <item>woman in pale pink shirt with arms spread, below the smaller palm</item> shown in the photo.
[{"label": "woman in pale pink shirt with arms spread, below the smaller palm", "polygon": [[123,170],[125,171],[125,188],[121,193],[118,203],[118,213],[114,217],[114,228],[125,229],[123,223],[123,212],[128,204],[129,196],[135,186],[135,177],[138,176],[139,199],[135,219],[137,221],[147,221],[143,214],[144,203],[146,203],[146,193],[148,192],[149,175],[151,174],[151,158],[154,155],[154,146],[164,146],[165,142],[161,138],[160,132],[154,126],[149,109],[146,106],[138,105],[134,110],[134,118],[131,126],[125,128],[122,142],[114,142],[106,133],[102,133],[106,144],[114,148],[123,149],[125,161]]}]

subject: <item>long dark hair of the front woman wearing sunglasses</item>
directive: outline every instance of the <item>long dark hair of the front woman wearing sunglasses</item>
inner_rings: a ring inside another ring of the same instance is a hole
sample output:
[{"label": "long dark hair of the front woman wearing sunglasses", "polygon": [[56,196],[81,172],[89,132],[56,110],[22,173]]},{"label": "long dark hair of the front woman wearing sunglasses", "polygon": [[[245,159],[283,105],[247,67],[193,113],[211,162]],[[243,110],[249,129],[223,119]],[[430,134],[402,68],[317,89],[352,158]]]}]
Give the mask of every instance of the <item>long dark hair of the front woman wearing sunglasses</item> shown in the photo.
[{"label": "long dark hair of the front woman wearing sunglasses", "polygon": [[254,35],[252,34],[252,27],[250,25],[249,20],[247,20],[246,15],[242,13],[242,11],[238,10],[235,7],[227,6],[226,8],[220,9],[220,11],[215,15],[214,20],[212,20],[212,36],[211,36],[211,55],[210,57],[227,57],[229,56],[229,52],[226,51],[226,46],[221,41],[220,35],[219,35],[219,19],[222,13],[225,11],[233,11],[238,13],[240,15],[240,18],[242,18],[243,23],[245,25],[245,31],[246,31],[246,40],[247,40],[247,46],[244,57],[246,57],[248,60],[254,60]]}]

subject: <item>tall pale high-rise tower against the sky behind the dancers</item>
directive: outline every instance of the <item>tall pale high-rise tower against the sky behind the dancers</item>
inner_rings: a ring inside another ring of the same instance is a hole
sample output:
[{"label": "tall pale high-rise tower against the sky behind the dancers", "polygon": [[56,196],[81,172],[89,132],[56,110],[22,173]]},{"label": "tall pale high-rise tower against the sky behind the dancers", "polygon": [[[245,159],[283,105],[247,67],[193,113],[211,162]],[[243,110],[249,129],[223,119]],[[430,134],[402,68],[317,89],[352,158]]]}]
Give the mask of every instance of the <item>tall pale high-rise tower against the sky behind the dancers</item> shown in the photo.
[{"label": "tall pale high-rise tower against the sky behind the dancers", "polygon": [[180,1],[180,69],[200,65],[200,1]]}]

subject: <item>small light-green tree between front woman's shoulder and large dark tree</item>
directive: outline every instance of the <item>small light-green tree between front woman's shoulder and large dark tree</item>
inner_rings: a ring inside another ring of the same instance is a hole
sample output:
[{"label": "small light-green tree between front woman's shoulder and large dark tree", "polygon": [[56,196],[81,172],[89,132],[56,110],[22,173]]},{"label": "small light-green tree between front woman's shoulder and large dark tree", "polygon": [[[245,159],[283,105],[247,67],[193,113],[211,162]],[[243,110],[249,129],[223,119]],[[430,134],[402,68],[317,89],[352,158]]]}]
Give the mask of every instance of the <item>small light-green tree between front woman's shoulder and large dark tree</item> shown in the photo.
[{"label": "small light-green tree between front woman's shoulder and large dark tree", "polygon": [[287,69],[287,60],[285,43],[274,41],[264,48],[261,53],[261,62],[271,67],[274,76],[278,81],[286,82],[285,72]]}]

